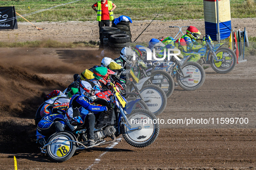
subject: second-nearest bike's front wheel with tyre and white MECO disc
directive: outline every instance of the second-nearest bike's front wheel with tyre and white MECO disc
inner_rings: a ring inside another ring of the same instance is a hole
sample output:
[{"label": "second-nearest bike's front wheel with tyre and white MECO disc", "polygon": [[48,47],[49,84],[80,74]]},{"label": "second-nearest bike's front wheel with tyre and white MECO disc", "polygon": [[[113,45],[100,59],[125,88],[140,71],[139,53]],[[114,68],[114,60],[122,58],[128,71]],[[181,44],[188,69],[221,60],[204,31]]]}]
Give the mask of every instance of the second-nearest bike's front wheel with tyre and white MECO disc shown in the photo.
[{"label": "second-nearest bike's front wheel with tyre and white MECO disc", "polygon": [[154,115],[161,114],[166,107],[167,98],[165,92],[157,85],[143,85],[139,91],[143,101]]}]

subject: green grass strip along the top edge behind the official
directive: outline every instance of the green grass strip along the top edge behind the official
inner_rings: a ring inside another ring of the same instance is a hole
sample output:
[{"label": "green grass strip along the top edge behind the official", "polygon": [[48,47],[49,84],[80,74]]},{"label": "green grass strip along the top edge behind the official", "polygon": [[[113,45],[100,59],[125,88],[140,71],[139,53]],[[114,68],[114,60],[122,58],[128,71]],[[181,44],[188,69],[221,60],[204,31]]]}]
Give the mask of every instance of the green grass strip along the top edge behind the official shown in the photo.
[{"label": "green grass strip along the top edge behind the official", "polygon": [[[1,0],[0,6],[15,6],[16,12],[23,15],[40,9],[58,6],[72,0]],[[96,12],[91,8],[97,0],[82,0],[77,3],[58,6],[47,11],[26,16],[32,22],[42,21],[94,21]],[[117,5],[115,17],[130,16],[133,20],[153,19],[204,19],[203,0],[113,0]],[[231,0],[231,17],[256,17],[255,0]],[[18,21],[24,21],[18,19]]]}]

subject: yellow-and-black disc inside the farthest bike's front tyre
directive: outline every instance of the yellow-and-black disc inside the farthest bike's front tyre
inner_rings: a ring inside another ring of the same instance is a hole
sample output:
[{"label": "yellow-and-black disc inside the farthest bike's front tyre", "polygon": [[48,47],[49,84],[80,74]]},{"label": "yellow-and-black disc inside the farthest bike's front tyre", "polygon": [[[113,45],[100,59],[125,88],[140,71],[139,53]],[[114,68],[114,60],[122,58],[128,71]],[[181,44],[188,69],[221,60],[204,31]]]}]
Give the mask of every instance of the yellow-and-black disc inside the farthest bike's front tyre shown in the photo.
[{"label": "yellow-and-black disc inside the farthest bike's front tyre", "polygon": [[229,51],[220,50],[217,52],[216,56],[218,57],[218,60],[224,59],[224,61],[216,61],[214,57],[212,57],[212,63],[214,63],[213,65],[215,69],[220,71],[227,71],[233,66],[234,59]]}]

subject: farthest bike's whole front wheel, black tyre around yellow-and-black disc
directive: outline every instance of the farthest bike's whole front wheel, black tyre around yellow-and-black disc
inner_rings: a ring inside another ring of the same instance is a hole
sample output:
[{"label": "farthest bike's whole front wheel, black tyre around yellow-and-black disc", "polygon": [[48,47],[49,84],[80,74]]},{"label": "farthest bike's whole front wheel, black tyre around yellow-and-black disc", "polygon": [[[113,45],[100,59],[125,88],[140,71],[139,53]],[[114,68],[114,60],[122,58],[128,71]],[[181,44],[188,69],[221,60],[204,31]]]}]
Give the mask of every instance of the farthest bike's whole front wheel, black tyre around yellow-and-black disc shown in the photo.
[{"label": "farthest bike's whole front wheel, black tyre around yellow-and-black disc", "polygon": [[218,60],[222,59],[223,61],[216,61],[213,56],[211,56],[211,67],[215,72],[220,74],[226,74],[230,72],[237,63],[236,54],[232,50],[226,47],[219,48],[215,52]]}]

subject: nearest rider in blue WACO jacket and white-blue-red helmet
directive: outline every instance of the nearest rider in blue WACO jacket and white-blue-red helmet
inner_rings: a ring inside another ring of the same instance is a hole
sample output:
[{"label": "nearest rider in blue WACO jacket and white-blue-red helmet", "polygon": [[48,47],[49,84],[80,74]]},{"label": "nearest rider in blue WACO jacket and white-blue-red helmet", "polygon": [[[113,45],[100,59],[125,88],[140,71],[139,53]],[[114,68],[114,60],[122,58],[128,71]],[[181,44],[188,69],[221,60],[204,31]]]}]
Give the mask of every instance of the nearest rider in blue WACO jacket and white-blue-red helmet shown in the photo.
[{"label": "nearest rider in blue WACO jacket and white-blue-red helmet", "polygon": [[[72,96],[69,107],[75,112],[79,112],[82,115],[83,124],[78,126],[85,125],[87,128],[87,146],[94,145],[94,126],[95,126],[95,115],[94,113],[99,113],[107,111],[106,106],[96,106],[91,105],[89,101],[94,101],[97,104],[107,104],[108,102],[104,99],[96,98],[95,91],[100,90],[97,86],[90,81],[81,81],[79,85],[78,94]],[[104,100],[104,101],[103,101]],[[69,108],[69,109],[70,109]],[[68,109],[68,110],[69,110]],[[88,112],[83,112],[83,109],[88,110]]]}]

